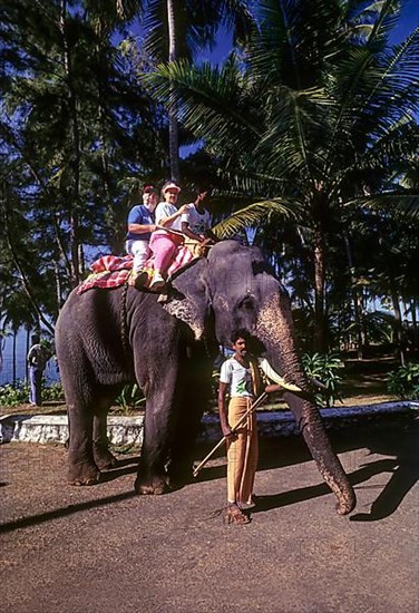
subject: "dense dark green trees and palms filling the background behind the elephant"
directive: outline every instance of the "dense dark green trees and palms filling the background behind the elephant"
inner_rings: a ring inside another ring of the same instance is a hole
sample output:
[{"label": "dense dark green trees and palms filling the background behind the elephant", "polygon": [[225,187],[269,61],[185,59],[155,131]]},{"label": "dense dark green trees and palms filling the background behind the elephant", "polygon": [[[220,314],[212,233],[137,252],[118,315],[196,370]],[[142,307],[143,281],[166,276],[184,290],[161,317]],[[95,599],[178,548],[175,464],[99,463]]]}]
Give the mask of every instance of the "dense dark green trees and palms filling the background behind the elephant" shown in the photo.
[{"label": "dense dark green trees and palms filling the background behind the elephant", "polygon": [[[400,2],[4,0],[0,18],[2,327],[52,329],[86,265],[123,252],[139,185],[170,175],[173,118],[199,149],[186,193],[212,184],[220,236],[253,228],[305,340],[362,343],[377,299],[416,325],[419,29],[390,43]],[[201,62],[221,27],[230,57]]]}]

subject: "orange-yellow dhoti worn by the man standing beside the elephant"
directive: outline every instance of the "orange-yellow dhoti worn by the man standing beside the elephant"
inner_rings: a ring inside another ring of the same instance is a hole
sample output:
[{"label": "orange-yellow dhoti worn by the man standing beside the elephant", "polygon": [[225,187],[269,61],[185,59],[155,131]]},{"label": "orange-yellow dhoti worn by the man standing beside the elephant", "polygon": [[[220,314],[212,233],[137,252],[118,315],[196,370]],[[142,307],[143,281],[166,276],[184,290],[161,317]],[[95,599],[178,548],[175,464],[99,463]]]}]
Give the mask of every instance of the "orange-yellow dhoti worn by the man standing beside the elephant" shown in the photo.
[{"label": "orange-yellow dhoti worn by the man standing beside the elephant", "polygon": [[[252,405],[249,397],[233,397],[228,402],[228,425],[233,429]],[[227,499],[233,503],[252,502],[257,467],[259,441],[256,415],[251,412],[236,430],[237,438],[227,441]]]}]

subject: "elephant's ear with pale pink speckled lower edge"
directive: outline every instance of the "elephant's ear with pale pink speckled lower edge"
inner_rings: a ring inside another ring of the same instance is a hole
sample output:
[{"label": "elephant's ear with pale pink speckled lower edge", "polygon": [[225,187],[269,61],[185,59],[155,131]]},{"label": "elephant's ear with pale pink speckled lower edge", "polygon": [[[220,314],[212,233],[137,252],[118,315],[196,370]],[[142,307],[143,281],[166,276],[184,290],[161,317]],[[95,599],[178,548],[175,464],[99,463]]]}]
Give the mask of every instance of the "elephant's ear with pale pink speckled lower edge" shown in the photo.
[{"label": "elephant's ear with pale pink speckled lower edge", "polygon": [[164,309],[186,323],[201,340],[205,332],[205,320],[211,308],[211,295],[206,283],[206,261],[199,260],[183,271],[172,283],[170,298]]}]

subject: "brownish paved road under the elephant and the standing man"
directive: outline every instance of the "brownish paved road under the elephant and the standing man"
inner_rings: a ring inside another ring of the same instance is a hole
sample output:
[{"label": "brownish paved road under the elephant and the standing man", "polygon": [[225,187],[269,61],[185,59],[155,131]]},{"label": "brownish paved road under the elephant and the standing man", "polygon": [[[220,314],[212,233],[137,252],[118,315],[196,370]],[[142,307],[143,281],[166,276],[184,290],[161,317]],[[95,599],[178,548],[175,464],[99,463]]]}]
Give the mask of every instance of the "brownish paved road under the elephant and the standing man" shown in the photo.
[{"label": "brownish paved road under the elephant and the standing man", "polygon": [[[418,420],[333,434],[358,496],[334,514],[300,438],[263,441],[247,526],[211,517],[222,458],[160,497],[133,495],[135,459],[66,486],[66,451],[1,455],[0,606],[13,613],[418,613]],[[205,449],[198,451],[202,457]]]}]

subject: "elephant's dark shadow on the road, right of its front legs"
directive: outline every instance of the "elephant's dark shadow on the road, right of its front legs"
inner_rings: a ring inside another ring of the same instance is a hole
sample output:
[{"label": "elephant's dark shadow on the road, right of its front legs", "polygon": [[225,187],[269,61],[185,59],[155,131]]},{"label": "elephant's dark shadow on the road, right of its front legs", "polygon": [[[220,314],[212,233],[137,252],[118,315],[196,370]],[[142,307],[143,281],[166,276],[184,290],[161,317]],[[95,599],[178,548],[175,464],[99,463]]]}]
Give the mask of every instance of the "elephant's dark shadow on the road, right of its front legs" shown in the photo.
[{"label": "elephant's dark shadow on the road, right of its front legs", "polygon": [[[362,464],[349,475],[354,487],[382,488],[372,503],[370,513],[357,513],[350,517],[352,522],[374,522],[388,517],[398,508],[405,496],[419,479],[419,459],[417,456],[419,435],[418,418],[412,415],[389,419],[386,424],[369,424],[362,428],[352,427],[347,430],[332,432],[332,447],[338,454],[369,449],[370,456],[379,457]],[[259,470],[267,470],[293,466],[310,461],[311,455],[302,437],[266,439],[261,441],[261,457]],[[206,468],[199,480],[210,480],[225,477],[225,465]],[[362,486],[376,475],[390,474],[390,479],[382,486]],[[303,487],[289,492],[281,492],[269,496],[260,496],[254,513],[263,513],[280,508],[318,496],[330,494],[324,484]]]}]

